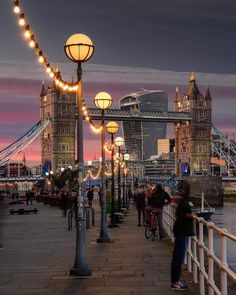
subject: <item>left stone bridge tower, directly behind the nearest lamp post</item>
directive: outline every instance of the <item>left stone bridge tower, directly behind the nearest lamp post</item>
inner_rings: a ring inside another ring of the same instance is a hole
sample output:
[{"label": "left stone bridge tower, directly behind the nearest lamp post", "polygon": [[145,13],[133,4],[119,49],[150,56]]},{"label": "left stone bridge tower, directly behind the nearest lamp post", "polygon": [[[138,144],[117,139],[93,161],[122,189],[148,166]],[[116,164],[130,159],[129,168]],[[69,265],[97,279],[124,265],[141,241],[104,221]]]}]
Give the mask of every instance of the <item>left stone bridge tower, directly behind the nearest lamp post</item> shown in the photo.
[{"label": "left stone bridge tower, directly behind the nearest lamp post", "polygon": [[[60,76],[59,70],[57,75]],[[43,172],[59,173],[61,168],[75,165],[76,96],[62,91],[54,82],[40,94],[40,119],[51,118],[41,133]]]}]

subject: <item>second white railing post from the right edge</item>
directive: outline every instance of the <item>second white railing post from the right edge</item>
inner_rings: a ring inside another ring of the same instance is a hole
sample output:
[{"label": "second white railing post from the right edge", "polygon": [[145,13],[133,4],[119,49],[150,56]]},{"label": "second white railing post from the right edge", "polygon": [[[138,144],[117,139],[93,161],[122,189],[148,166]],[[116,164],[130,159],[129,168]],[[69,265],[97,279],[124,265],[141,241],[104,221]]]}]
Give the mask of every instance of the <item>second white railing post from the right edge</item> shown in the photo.
[{"label": "second white railing post from the right edge", "polygon": [[214,284],[214,260],[212,258],[212,255],[214,254],[213,249],[213,223],[209,222],[207,225],[208,229],[208,294],[214,295],[214,289],[212,288],[212,285]]}]

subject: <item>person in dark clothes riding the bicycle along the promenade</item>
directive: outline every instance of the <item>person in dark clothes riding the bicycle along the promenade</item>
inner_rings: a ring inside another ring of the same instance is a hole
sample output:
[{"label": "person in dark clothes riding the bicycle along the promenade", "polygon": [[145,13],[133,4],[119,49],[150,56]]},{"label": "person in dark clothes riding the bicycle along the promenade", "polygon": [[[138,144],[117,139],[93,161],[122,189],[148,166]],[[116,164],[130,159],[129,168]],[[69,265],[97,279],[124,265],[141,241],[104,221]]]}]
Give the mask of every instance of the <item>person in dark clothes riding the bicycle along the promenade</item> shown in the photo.
[{"label": "person in dark clothes riding the bicycle along the promenade", "polygon": [[149,199],[148,205],[151,206],[152,210],[157,212],[160,240],[165,234],[163,227],[163,207],[170,203],[171,197],[169,194],[167,194],[160,184],[157,184],[151,198]]}]

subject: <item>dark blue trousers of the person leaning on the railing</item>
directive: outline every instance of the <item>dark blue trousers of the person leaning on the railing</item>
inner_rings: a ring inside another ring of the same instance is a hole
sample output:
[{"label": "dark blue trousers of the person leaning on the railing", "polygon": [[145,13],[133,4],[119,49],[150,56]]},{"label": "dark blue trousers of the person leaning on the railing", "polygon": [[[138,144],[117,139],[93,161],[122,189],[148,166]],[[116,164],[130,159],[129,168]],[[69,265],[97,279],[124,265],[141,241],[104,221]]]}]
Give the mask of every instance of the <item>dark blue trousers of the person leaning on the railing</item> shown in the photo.
[{"label": "dark blue trousers of the person leaning on the railing", "polygon": [[180,280],[181,268],[188,245],[187,236],[178,236],[175,238],[174,252],[171,262],[171,283],[177,283]]}]

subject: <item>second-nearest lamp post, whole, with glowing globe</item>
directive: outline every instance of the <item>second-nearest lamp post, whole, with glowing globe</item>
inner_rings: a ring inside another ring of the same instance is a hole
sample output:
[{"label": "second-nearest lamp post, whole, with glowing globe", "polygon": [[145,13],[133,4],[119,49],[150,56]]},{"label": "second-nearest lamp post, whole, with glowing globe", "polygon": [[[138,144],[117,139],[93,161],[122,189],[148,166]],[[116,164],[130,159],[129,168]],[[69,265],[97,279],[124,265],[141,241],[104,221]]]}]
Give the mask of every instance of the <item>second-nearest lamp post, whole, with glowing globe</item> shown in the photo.
[{"label": "second-nearest lamp post, whole, with glowing globe", "polygon": [[105,130],[104,130],[104,111],[109,109],[112,105],[112,98],[107,92],[99,92],[94,98],[95,106],[101,110],[102,113],[102,139],[101,139],[101,154],[102,154],[102,190],[101,190],[101,226],[100,234],[97,238],[97,243],[110,242],[111,238],[107,232],[106,222],[106,184],[105,184]]}]

